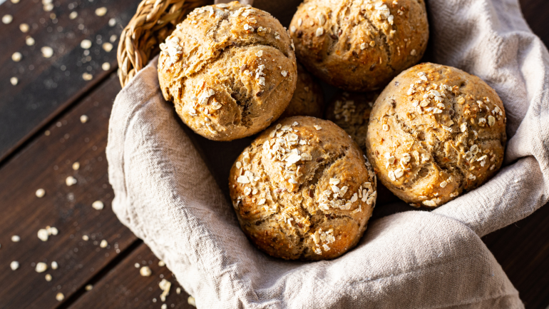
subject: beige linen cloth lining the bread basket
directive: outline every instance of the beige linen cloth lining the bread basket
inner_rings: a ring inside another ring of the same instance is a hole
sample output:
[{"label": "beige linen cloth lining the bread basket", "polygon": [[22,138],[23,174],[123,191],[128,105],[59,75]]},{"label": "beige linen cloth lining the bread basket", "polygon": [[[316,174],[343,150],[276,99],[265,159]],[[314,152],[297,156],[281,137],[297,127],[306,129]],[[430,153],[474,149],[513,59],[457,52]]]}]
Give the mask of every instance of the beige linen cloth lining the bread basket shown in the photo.
[{"label": "beige linen cloth lining the bread basket", "polygon": [[[263,3],[273,1],[255,1]],[[255,249],[217,184],[250,138],[217,143],[185,128],[160,93],[156,59],[120,91],[107,147],[113,211],[198,308],[523,308],[480,237],[548,201],[549,54],[516,0],[431,0],[428,9],[428,59],[480,76],[506,106],[506,166],[435,211],[371,221],[335,260],[292,262]]]}]

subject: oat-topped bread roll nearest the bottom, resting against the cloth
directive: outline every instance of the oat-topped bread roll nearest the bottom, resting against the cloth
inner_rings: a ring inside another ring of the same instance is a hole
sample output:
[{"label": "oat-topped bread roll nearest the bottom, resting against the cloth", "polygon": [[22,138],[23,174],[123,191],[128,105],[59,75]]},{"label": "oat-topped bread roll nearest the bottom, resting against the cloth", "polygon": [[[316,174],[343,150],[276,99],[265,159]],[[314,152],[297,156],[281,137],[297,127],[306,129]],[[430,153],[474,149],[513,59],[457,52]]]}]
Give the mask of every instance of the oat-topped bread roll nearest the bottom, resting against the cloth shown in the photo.
[{"label": "oat-topped bread roll nearest the bottom, resting against the cloth", "polygon": [[244,233],[288,260],[337,258],[358,243],[376,178],[356,143],[331,121],[284,118],[237,158],[230,196]]}]

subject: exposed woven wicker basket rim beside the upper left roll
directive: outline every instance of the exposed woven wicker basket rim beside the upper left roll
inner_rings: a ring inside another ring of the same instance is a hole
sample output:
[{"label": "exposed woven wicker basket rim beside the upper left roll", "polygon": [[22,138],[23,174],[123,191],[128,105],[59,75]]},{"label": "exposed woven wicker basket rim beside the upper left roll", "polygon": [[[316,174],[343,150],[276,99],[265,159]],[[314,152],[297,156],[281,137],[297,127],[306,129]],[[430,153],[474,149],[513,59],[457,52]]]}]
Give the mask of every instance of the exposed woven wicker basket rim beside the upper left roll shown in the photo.
[{"label": "exposed woven wicker basket rim beside the upper left roll", "polygon": [[208,0],[143,0],[118,43],[118,77],[124,86],[160,52],[163,42],[185,16]]}]

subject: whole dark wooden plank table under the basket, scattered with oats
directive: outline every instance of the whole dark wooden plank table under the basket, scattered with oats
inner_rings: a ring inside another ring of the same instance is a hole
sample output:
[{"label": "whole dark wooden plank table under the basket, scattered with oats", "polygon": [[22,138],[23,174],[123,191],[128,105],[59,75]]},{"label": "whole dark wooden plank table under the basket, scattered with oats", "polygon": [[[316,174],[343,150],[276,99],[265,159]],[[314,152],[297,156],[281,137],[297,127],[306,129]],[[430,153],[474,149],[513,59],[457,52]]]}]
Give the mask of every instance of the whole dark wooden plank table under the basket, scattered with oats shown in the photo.
[{"label": "whole dark wooden plank table under the basket, scattered with oats", "polygon": [[[549,44],[549,1],[520,2],[533,31]],[[0,24],[0,308],[193,308],[172,273],[111,210],[105,148],[120,91],[116,47],[137,5],[136,0],[0,5],[0,17],[13,16]],[[97,11],[102,7],[106,14]],[[26,33],[21,24],[28,25]],[[85,39],[91,41],[88,49]],[[48,56],[44,46],[53,49],[51,57],[43,56],[43,51]],[[12,60],[16,52],[19,61]],[[66,185],[69,176],[77,181],[73,186]],[[39,188],[46,192],[42,198],[36,196]],[[94,209],[94,201],[104,208]],[[58,234],[42,241],[37,233],[46,226]],[[13,242],[13,235],[21,240]],[[545,206],[483,238],[526,308],[549,305],[548,236]],[[17,270],[10,269],[14,260]],[[53,261],[58,268],[51,267]],[[48,269],[37,273],[37,263]],[[144,265],[152,275],[140,275]],[[163,279],[172,283],[165,303],[158,286]],[[56,300],[58,293],[62,300]]]}]

